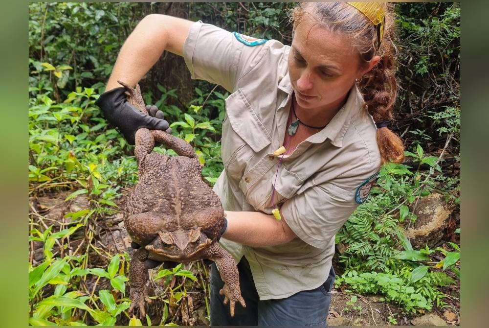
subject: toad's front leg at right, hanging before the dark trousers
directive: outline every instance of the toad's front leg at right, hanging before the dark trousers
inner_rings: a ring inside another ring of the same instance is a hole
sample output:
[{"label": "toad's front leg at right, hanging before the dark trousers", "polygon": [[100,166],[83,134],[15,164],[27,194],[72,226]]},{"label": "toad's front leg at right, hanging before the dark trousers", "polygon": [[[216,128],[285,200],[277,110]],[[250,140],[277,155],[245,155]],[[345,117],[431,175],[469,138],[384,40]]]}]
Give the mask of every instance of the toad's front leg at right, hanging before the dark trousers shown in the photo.
[{"label": "toad's front leg at right, hanging before the dark trousers", "polygon": [[224,296],[224,305],[229,302],[230,314],[231,317],[233,317],[236,302],[239,302],[243,307],[246,307],[244,299],[241,296],[240,275],[234,258],[217,242],[212,244],[209,249],[206,250],[204,256],[216,262],[216,265],[219,268],[219,274],[221,275],[222,281],[224,281],[224,286],[219,293]]}]

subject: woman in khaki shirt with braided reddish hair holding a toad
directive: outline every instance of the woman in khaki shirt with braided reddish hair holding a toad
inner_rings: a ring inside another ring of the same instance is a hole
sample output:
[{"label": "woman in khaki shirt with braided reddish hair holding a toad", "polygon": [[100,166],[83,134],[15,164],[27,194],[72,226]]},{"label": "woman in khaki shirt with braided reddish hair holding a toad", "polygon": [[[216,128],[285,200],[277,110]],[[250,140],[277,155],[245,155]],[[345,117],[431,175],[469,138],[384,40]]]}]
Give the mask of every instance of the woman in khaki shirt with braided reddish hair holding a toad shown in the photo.
[{"label": "woman in khaki shirt with braided reddish hair holding a toad", "polygon": [[[397,85],[392,8],[383,2],[303,2],[291,47],[164,15],[128,37],[97,104],[133,143],[165,130],[124,100],[164,50],[192,78],[222,85],[224,171],[214,186],[227,217],[220,243],[238,263],[246,307],[230,317],[211,270],[212,325],[326,325],[334,235],[364,202],[381,164],[401,162],[387,128]],[[155,110],[152,111],[155,116]]]}]

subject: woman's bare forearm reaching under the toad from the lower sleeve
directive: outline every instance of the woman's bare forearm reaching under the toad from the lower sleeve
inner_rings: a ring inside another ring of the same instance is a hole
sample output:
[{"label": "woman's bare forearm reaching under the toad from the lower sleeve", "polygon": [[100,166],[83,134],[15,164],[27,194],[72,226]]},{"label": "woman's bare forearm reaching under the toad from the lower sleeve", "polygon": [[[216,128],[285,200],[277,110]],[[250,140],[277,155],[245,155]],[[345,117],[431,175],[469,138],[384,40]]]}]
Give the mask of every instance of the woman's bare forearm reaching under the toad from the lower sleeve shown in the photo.
[{"label": "woman's bare forearm reaching under the toad from the lower sleeve", "polygon": [[262,212],[226,211],[227,231],[222,238],[265,247],[286,243],[296,237],[285,220]]}]

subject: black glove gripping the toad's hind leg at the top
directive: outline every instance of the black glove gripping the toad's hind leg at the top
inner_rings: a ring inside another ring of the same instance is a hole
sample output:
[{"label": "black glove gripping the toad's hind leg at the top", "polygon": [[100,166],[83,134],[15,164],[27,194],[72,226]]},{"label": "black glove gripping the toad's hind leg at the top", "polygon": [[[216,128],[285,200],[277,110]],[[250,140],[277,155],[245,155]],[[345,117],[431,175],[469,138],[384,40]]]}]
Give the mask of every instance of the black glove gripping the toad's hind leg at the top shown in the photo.
[{"label": "black glove gripping the toad's hind leg at the top", "polygon": [[127,101],[125,91],[123,87],[107,91],[99,96],[95,105],[100,107],[105,118],[115,126],[117,132],[122,134],[129,144],[134,144],[134,136],[140,128],[163,131],[169,128],[170,125],[166,120],[144,115],[131,105]]}]

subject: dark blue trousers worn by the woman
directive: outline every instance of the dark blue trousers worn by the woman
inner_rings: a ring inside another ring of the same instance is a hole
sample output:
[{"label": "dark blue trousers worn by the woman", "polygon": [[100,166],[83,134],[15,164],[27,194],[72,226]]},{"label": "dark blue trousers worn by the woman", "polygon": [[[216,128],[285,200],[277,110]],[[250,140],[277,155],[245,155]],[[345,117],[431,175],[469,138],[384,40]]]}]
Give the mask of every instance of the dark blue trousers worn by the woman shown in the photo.
[{"label": "dark blue trousers worn by the woman", "polygon": [[219,290],[224,285],[216,264],[211,264],[210,324],[211,326],[327,326],[326,317],[331,302],[334,270],[319,287],[304,290],[284,299],[260,301],[251,276],[248,261],[238,263],[241,294],[244,308],[236,303],[234,317],[229,314],[229,304],[223,305],[224,297]]}]

